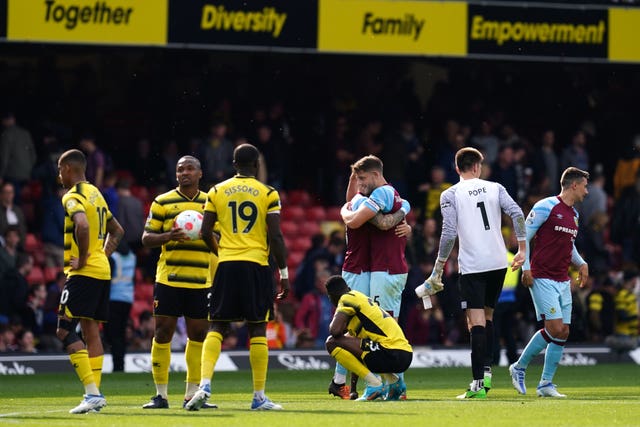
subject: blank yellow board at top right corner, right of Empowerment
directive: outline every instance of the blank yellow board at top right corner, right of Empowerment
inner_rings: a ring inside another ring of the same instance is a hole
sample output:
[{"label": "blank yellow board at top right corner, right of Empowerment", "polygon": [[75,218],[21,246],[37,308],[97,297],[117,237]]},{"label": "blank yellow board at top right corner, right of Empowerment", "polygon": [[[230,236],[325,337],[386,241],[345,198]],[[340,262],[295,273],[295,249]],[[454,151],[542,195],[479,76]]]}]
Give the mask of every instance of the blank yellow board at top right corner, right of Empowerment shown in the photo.
[{"label": "blank yellow board at top right corner, right of Empowerment", "polygon": [[609,60],[640,61],[640,9],[609,9]]}]

